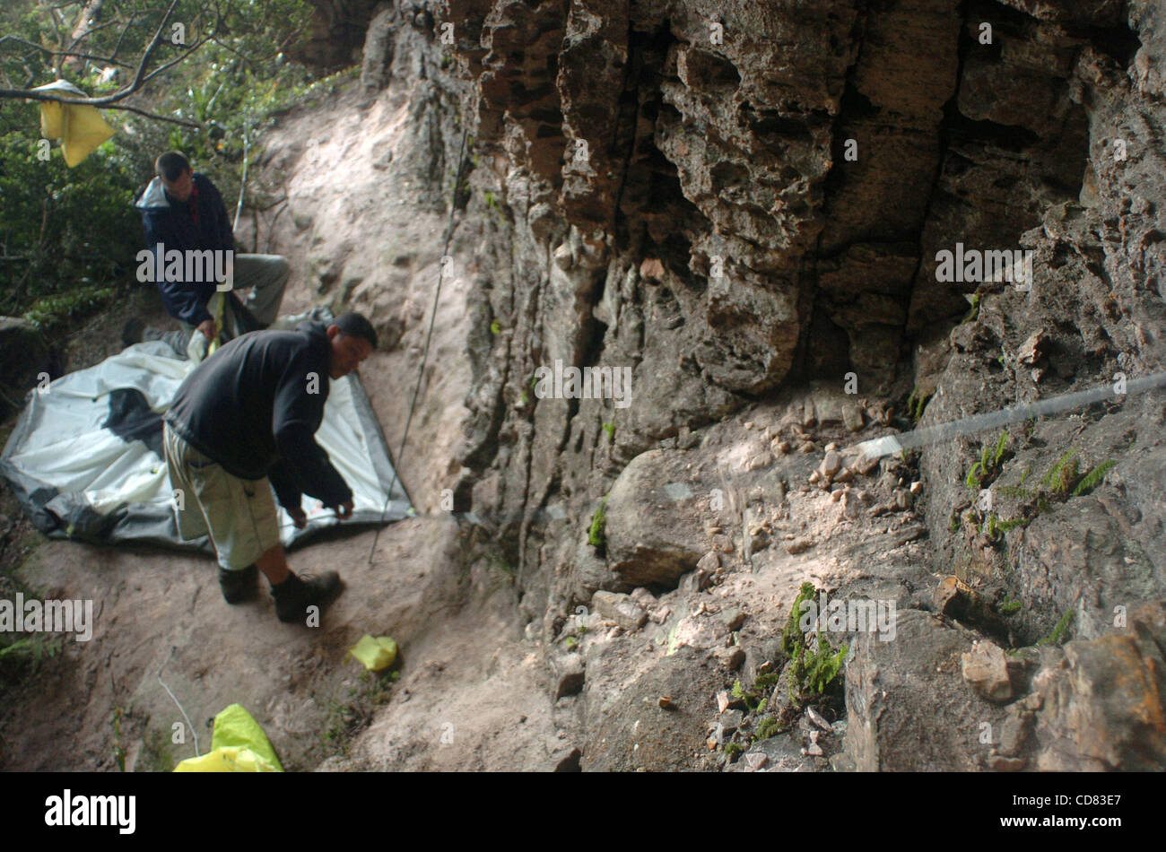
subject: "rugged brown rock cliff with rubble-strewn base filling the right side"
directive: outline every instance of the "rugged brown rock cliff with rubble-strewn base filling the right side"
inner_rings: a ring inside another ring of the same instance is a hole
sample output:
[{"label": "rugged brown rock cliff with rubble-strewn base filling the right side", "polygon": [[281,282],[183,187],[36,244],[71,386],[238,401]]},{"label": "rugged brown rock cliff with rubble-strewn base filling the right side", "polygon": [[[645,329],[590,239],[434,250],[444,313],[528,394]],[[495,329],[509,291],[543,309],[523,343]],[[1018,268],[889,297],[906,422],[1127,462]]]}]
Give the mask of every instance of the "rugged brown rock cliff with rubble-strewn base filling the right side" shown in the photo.
[{"label": "rugged brown rock cliff with rubble-strewn base filling the right side", "polygon": [[[372,22],[367,97],[422,92],[443,157],[469,135],[472,379],[435,490],[517,569],[564,767],[715,765],[712,696],[780,668],[806,579],[898,601],[898,639],[829,636],[833,753],[733,768],[1166,763],[1166,627],[1138,608],[1166,597],[1161,392],[841,452],[1166,369],[1156,3],[319,6]],[[630,397],[540,395],[556,362],[626,367]],[[947,575],[982,607],[940,601]]]}]

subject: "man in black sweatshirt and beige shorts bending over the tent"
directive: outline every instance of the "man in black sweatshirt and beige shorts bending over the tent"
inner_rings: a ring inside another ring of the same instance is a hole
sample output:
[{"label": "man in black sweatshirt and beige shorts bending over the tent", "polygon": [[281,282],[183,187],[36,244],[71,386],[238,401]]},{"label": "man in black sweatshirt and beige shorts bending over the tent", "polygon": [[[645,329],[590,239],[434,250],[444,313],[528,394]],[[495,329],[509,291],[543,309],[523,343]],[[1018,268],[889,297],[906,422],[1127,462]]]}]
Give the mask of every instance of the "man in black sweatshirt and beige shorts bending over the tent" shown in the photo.
[{"label": "man in black sweatshirt and beige shorts bending over the tent", "polygon": [[326,326],[253,331],[199,364],[175,394],[162,443],[178,534],[210,535],[229,604],[250,597],[257,569],[272,584],[281,621],[304,618],[339,586],[335,571],[301,579],[288,569],[272,488],[300,528],[303,494],[337,517],[352,514],[352,491],[314,435],[329,379],[347,375],[375,346],[377,332],[359,314]]}]

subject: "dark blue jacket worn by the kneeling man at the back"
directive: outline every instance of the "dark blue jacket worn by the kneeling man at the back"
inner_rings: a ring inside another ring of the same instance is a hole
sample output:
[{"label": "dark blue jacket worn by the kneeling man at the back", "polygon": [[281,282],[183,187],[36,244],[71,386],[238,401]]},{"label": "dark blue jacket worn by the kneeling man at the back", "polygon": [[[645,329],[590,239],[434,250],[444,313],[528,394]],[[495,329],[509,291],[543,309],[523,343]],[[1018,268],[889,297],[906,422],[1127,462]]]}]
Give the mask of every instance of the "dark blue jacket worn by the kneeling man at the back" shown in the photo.
[{"label": "dark blue jacket worn by the kneeling man at the back", "polygon": [[[155,177],[134,199],[141,211],[142,227],[146,230],[146,247],[156,256],[157,246],[166,251],[227,251],[234,249],[231,220],[223,205],[223,196],[210,178],[199,172],[194,175],[195,192],[189,202],[171,198]],[[196,221],[197,213],[197,221]],[[163,265],[164,266],[164,265]],[[175,319],[198,325],[212,319],[206,302],[215,294],[217,282],[213,275],[204,275],[206,281],[156,281],[162,291],[162,303]]]}]

